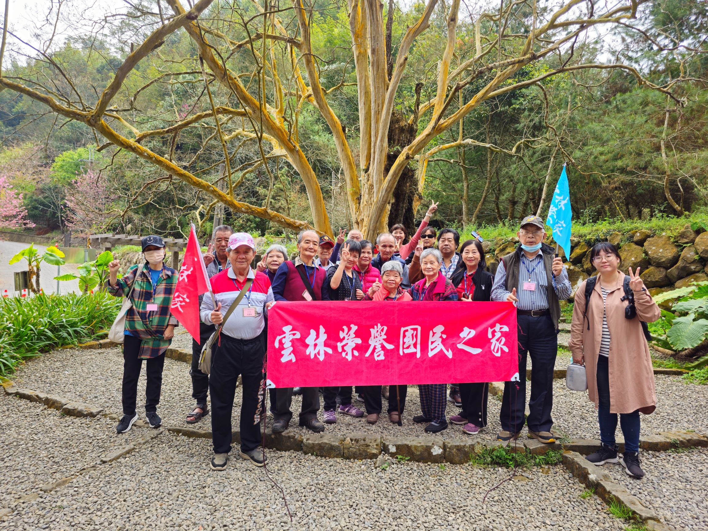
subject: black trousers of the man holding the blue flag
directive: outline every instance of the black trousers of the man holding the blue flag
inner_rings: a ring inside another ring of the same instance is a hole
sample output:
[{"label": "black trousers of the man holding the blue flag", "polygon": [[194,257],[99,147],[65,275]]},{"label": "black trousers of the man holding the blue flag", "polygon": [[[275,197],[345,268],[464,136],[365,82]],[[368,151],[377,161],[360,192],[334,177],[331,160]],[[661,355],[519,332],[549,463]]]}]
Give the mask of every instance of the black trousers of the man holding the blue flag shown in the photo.
[{"label": "black trousers of the man holding the blue flag", "polygon": [[501,429],[516,433],[524,426],[526,409],[526,361],[531,356],[531,398],[526,423],[532,431],[550,431],[553,426],[553,369],[558,354],[558,336],[551,316],[520,315],[519,381],[504,384],[501,401]]}]

